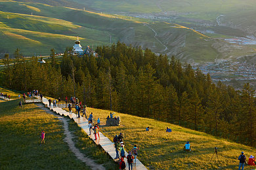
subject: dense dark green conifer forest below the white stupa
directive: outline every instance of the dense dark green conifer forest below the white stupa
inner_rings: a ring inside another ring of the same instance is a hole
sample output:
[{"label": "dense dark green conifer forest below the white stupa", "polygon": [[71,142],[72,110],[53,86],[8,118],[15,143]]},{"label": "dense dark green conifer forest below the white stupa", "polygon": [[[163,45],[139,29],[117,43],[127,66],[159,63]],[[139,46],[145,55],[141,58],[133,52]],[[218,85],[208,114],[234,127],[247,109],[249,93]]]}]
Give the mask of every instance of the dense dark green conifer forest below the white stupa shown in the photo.
[{"label": "dense dark green conifer forest below the white stupa", "polygon": [[244,84],[234,90],[209,74],[166,55],[117,42],[98,46],[94,56],[74,56],[67,48],[61,61],[51,50],[51,62],[16,62],[5,56],[5,87],[38,89],[51,97],[75,96],[89,107],[154,118],[205,131],[251,146],[256,145],[255,90]]}]

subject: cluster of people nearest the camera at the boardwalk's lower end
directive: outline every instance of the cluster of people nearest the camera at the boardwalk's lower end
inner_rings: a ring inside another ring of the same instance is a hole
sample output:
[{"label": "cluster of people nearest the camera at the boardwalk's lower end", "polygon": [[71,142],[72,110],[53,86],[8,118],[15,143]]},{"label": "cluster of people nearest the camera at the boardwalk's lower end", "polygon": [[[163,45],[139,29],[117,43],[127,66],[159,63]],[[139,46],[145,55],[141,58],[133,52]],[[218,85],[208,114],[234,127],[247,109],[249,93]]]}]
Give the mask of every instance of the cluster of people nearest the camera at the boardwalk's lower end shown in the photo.
[{"label": "cluster of people nearest the camera at the boardwalk's lower end", "polygon": [[[120,133],[119,135],[116,135],[113,139],[114,146],[116,149],[116,159],[119,159],[119,169],[125,169],[126,163],[125,158],[127,159],[127,163],[129,166],[129,170],[133,170],[133,163],[136,164],[136,158],[138,155],[138,148],[137,145],[133,147],[131,151],[129,151],[129,154],[125,156],[125,144],[123,143],[123,134]],[[120,157],[120,158],[119,158]]]}]

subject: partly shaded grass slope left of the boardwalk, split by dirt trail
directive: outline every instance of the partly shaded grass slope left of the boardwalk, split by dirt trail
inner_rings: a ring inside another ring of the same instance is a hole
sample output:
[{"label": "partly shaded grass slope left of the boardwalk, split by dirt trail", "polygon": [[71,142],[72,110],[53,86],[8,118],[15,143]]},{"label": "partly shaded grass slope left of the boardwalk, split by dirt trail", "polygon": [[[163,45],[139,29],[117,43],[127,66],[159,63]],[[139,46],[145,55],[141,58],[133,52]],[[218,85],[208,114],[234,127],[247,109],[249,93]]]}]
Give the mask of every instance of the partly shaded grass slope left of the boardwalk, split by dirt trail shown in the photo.
[{"label": "partly shaded grass slope left of the boardwalk, split by dirt trail", "polygon": [[[18,102],[17,99],[0,103],[1,169],[91,169],[77,160],[64,141],[64,128],[56,116],[34,104],[21,109]],[[41,145],[42,130],[45,144]],[[104,164],[106,169],[116,169],[116,163],[74,121],[69,122],[69,130],[81,152]]]}]

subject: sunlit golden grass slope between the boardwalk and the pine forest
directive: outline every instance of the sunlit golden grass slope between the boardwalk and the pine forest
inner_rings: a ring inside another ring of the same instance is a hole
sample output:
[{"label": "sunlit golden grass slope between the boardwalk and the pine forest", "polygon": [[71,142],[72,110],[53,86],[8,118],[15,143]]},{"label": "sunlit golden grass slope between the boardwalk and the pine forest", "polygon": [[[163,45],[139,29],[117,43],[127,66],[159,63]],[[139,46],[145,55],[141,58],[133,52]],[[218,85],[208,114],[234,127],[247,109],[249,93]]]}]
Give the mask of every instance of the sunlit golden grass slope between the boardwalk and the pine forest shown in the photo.
[{"label": "sunlit golden grass slope between the boardwalk and the pine forest", "polygon": [[[95,120],[99,117],[102,125],[110,114],[110,110],[87,110],[93,112]],[[249,146],[157,120],[117,112],[114,116],[121,117],[121,126],[103,126],[101,131],[111,140],[114,135],[123,133],[126,150],[131,150],[133,144],[138,144],[138,158],[150,169],[237,169],[241,151],[247,157],[254,155],[256,151]],[[148,126],[152,131],[145,131]],[[166,127],[173,132],[166,133]],[[190,141],[192,152],[182,150],[186,141]],[[219,148],[218,163],[215,157],[211,160],[215,146]],[[252,168],[247,166],[245,169]]]}]

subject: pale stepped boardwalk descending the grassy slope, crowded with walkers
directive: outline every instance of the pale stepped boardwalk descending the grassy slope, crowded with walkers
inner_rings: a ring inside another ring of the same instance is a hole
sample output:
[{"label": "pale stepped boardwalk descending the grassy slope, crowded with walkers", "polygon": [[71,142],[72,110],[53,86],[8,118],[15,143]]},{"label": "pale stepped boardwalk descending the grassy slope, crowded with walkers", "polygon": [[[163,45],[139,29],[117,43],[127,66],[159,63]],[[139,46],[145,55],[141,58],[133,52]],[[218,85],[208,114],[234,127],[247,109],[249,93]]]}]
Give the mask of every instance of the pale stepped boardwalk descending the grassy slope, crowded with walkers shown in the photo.
[{"label": "pale stepped boardwalk descending the grassy slope, crowded with walkers", "polygon": [[[49,101],[48,99],[46,99],[45,97],[43,97],[42,103],[44,105],[47,105],[47,107],[51,110],[53,110],[54,112],[56,112],[56,114],[60,114],[61,116],[69,116],[71,119],[73,119],[77,125],[79,127],[81,127],[81,129],[83,129],[83,131],[85,131],[85,133],[87,133],[87,135],[89,135],[89,126],[88,126],[88,120],[84,117],[81,118],[77,118],[77,115],[72,113],[70,114],[69,112],[67,112],[66,110],[63,110],[62,108],[59,107],[49,107]],[[96,143],[99,144],[100,146],[102,146],[102,148],[111,156],[111,158],[113,160],[115,160],[114,158],[116,158],[116,149],[114,147],[114,143],[112,143],[112,141],[110,141],[110,139],[108,139],[108,137],[104,136],[101,132],[99,132],[100,138],[97,139],[96,141],[93,140],[95,137],[93,134],[89,135],[89,137]],[[128,153],[125,151],[125,155],[127,156]],[[127,162],[127,160],[125,159],[125,162]],[[128,164],[126,166],[126,168],[128,170]],[[146,170],[147,168],[138,160],[136,160],[136,164],[133,165],[133,170]]]}]

